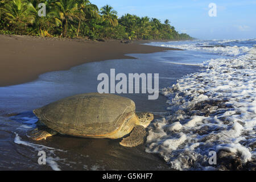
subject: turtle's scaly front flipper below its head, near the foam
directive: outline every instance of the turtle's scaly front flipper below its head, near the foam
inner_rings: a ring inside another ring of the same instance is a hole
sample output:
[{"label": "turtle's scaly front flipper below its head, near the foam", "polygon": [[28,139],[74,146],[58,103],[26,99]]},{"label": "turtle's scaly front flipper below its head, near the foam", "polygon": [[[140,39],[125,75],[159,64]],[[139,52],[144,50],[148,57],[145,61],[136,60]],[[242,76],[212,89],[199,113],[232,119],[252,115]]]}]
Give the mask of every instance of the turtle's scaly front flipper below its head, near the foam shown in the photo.
[{"label": "turtle's scaly front flipper below its head, near the foam", "polygon": [[125,147],[136,147],[139,144],[144,143],[144,137],[146,137],[146,130],[141,125],[134,126],[133,131],[129,137],[123,138],[122,141],[119,143]]}]

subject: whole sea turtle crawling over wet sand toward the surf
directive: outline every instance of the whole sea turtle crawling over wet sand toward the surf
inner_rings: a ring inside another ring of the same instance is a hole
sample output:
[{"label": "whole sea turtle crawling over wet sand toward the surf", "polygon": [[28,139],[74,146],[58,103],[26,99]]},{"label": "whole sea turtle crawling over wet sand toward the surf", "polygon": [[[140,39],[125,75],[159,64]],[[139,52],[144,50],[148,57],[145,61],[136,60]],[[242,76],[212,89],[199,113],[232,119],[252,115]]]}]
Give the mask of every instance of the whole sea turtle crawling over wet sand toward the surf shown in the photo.
[{"label": "whole sea turtle crawling over wet sand toward the surf", "polygon": [[[114,94],[88,93],[64,98],[35,109],[38,128],[29,137],[42,140],[57,133],[86,138],[123,138],[120,144],[143,143],[152,113],[135,113],[135,103]],[[131,132],[132,131],[132,132]]]}]

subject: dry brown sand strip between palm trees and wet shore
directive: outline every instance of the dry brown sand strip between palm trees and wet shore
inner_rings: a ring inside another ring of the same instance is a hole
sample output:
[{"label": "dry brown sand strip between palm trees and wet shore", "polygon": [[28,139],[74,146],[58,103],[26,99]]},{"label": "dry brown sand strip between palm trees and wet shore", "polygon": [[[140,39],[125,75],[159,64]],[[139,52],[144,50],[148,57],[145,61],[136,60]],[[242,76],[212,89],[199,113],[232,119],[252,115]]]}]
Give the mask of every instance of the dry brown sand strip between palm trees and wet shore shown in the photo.
[{"label": "dry brown sand strip between palm trees and wet shore", "polygon": [[0,87],[34,81],[43,73],[68,70],[93,61],[136,59],[125,56],[130,53],[180,50],[142,45],[152,41],[125,44],[119,40],[94,42],[86,39],[0,35]]}]

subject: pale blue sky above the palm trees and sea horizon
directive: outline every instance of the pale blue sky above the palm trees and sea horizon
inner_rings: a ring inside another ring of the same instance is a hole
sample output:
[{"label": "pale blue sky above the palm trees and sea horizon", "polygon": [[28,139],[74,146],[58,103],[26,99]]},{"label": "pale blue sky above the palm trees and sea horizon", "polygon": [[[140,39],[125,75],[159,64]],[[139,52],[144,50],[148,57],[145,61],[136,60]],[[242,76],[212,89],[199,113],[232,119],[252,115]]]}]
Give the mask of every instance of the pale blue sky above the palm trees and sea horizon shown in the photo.
[{"label": "pale blue sky above the palm trees and sea horizon", "polygon": [[[199,39],[256,38],[256,0],[91,0],[99,8],[108,4],[118,11],[170,19],[172,26]],[[217,5],[217,16],[210,17],[210,3]]]}]

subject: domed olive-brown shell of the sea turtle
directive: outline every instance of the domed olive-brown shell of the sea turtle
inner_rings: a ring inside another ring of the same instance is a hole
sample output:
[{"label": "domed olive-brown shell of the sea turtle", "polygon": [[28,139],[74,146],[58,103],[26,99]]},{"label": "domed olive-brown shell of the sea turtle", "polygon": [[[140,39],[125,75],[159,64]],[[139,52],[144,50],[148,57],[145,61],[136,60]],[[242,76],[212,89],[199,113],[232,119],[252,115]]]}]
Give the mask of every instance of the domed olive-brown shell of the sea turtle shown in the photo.
[{"label": "domed olive-brown shell of the sea turtle", "polygon": [[135,115],[135,104],[113,94],[89,93],[53,102],[34,113],[59,133],[97,138],[108,137],[126,125]]}]

